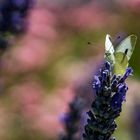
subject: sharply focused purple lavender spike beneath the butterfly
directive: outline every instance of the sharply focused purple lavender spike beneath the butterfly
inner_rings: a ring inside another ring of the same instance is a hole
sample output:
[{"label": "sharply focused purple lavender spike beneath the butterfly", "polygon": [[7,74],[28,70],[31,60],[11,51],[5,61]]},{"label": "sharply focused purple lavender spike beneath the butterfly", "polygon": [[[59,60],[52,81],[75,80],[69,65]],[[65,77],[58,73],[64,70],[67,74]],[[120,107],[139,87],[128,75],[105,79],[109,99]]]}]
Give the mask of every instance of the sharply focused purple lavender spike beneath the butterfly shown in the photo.
[{"label": "sharply focused purple lavender spike beneath the butterfly", "polygon": [[123,76],[116,76],[106,61],[99,75],[95,76],[93,89],[96,98],[87,113],[89,118],[83,134],[84,140],[115,140],[111,137],[117,128],[115,119],[120,115],[122,103],[126,100],[128,87],[125,80],[132,72],[131,68],[127,68]]}]

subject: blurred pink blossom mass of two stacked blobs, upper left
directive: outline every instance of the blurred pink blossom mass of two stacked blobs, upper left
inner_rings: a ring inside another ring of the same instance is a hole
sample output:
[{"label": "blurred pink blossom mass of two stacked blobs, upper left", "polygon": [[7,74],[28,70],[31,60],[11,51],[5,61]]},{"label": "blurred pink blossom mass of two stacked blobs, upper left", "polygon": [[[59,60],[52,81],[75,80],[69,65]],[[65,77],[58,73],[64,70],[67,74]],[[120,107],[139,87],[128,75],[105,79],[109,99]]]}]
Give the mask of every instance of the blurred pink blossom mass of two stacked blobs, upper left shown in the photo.
[{"label": "blurred pink blossom mass of two stacked blobs, upper left", "polygon": [[[9,73],[38,70],[46,65],[48,58],[52,59],[52,43],[55,42],[56,18],[47,9],[35,8],[29,15],[29,25],[26,35],[18,38],[15,47],[10,51],[10,58],[3,60],[3,69]],[[16,67],[15,67],[16,65]]]}]

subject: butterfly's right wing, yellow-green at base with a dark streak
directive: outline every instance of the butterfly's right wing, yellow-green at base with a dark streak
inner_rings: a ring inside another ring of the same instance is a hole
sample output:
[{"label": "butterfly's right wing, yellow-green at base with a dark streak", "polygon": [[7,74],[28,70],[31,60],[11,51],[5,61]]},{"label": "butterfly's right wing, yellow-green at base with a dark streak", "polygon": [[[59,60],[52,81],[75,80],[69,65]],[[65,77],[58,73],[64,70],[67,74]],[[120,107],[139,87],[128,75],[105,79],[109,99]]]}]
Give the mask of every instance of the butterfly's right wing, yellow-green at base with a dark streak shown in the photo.
[{"label": "butterfly's right wing, yellow-green at base with a dark streak", "polygon": [[129,64],[129,60],[132,56],[136,45],[137,37],[135,35],[130,35],[125,38],[115,50],[115,64],[114,73],[123,75]]}]

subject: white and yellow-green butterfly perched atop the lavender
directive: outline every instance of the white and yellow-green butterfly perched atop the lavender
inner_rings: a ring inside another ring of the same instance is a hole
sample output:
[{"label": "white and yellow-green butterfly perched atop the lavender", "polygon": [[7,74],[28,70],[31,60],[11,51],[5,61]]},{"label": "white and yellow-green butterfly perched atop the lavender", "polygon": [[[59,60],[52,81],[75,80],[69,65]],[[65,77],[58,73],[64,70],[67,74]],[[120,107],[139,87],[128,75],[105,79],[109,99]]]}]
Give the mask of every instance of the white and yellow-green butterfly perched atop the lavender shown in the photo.
[{"label": "white and yellow-green butterfly perched atop the lavender", "polygon": [[113,66],[113,72],[116,75],[123,75],[129,65],[129,60],[134,51],[137,36],[130,35],[114,47],[113,41],[109,34],[105,39],[105,60]]}]

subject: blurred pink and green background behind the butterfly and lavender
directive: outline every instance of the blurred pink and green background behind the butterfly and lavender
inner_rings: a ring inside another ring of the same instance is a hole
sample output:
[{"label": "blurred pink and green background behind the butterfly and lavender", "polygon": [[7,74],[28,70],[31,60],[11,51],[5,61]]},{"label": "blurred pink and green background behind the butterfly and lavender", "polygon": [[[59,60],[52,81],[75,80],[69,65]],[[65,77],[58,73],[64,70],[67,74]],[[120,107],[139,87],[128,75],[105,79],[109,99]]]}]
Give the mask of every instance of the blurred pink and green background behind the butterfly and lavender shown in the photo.
[{"label": "blurred pink and green background behind the butterfly and lavender", "polygon": [[0,139],[56,140],[75,94],[92,99],[105,35],[135,34],[127,101],[114,136],[140,139],[140,0],[36,0],[1,57]]}]

